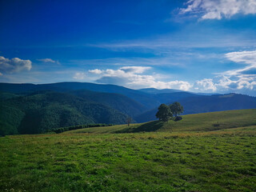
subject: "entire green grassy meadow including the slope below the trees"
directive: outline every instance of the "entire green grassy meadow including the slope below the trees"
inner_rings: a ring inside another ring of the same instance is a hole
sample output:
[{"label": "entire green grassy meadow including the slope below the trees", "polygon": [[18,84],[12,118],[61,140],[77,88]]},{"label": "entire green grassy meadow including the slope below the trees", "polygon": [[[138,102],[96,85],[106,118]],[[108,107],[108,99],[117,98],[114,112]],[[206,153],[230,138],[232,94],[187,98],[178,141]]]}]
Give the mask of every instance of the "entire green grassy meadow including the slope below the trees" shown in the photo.
[{"label": "entire green grassy meadow including the slope below the trees", "polygon": [[255,191],[255,117],[234,110],[2,137],[0,191]]}]

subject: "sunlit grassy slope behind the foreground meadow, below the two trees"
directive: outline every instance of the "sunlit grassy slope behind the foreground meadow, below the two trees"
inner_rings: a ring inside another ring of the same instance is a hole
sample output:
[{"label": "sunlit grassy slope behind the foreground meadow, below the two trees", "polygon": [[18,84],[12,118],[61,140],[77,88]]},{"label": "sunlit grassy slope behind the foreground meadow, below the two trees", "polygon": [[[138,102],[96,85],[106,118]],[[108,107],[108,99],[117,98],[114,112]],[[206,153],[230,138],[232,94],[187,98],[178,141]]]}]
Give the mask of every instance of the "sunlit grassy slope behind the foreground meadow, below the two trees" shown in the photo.
[{"label": "sunlit grassy slope behind the foreground meadow, below the two trees", "polygon": [[[126,125],[109,126],[98,128],[86,128],[82,130],[71,130],[63,134],[106,134],[106,133],[133,133],[140,131],[209,131],[234,128],[239,126],[256,125],[256,109],[252,110],[228,110],[206,114],[187,114],[182,116],[182,121],[174,122],[146,122]],[[214,126],[219,124],[219,126]]]}]

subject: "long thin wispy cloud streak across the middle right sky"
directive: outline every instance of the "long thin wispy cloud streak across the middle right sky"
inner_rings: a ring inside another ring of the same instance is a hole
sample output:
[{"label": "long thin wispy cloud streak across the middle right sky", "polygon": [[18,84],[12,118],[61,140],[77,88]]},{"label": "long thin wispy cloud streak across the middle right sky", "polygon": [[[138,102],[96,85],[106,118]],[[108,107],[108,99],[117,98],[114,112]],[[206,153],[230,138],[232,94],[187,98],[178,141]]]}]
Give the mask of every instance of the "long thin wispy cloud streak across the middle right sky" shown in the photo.
[{"label": "long thin wispy cloud streak across the middle right sky", "polygon": [[[255,0],[256,1],[256,0]],[[189,32],[190,30],[190,32]],[[164,54],[166,51],[174,49],[191,48],[230,48],[255,46],[254,31],[245,30],[239,34],[230,31],[212,29],[198,29],[191,31],[190,28],[179,31],[178,34],[166,34],[158,38],[132,39],[120,42],[101,42],[98,44],[87,44],[85,46],[98,47],[112,51],[139,51],[141,53],[153,52]]]}]

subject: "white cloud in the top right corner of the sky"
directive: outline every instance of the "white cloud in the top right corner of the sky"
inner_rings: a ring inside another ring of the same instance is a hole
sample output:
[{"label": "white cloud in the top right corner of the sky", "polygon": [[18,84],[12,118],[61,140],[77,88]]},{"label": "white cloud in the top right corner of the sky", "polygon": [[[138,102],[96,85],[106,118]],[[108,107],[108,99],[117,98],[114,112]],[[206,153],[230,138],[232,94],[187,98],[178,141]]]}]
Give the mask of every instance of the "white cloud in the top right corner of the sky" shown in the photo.
[{"label": "white cloud in the top right corner of the sky", "polygon": [[230,18],[234,14],[256,14],[256,0],[190,0],[181,14],[202,14],[202,19]]}]

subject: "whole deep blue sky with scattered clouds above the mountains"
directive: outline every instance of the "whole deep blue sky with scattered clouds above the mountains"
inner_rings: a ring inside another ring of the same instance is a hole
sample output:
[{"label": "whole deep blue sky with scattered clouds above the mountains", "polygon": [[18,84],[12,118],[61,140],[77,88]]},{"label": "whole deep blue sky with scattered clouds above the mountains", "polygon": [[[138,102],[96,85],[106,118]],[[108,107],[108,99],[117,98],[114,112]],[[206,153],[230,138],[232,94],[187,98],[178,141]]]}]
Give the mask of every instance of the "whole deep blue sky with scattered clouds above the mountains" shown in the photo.
[{"label": "whole deep blue sky with scattered clouds above the mountains", "polygon": [[256,0],[2,0],[0,82],[256,96]]}]

